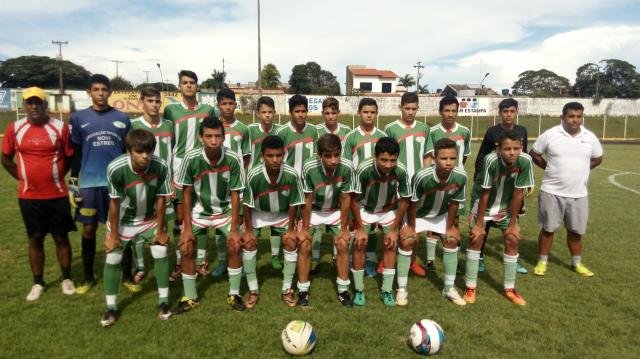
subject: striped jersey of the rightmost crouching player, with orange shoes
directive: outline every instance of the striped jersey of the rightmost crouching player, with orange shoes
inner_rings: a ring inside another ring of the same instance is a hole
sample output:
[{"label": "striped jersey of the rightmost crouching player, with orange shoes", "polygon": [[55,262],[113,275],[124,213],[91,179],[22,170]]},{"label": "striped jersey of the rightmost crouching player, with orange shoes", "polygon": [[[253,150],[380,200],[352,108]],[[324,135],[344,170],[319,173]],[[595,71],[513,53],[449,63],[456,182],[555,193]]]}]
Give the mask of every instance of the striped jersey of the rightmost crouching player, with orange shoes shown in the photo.
[{"label": "striped jersey of the rightmost crouching player, with orange shoes", "polygon": [[500,220],[508,213],[515,188],[527,188],[535,184],[531,156],[521,153],[516,162],[507,167],[497,152],[491,152],[484,159],[482,176],[473,184],[472,202],[480,198],[483,188],[490,188],[489,201],[484,213],[485,219]]}]

